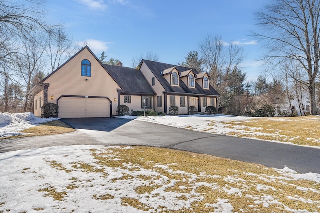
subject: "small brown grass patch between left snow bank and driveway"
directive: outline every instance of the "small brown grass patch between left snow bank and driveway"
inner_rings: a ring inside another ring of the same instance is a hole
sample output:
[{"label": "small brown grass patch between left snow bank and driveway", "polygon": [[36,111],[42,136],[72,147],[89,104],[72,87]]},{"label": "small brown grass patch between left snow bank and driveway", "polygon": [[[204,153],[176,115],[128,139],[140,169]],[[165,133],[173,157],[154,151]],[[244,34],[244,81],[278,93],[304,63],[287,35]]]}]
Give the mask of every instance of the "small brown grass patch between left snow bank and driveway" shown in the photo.
[{"label": "small brown grass patch between left snow bank and driveway", "polygon": [[[22,133],[27,133],[25,135],[9,136],[5,138],[23,138],[23,137],[30,137],[30,136],[54,135],[54,134],[68,133],[73,131],[75,131],[75,129],[73,129],[66,123],[60,120],[53,120],[35,127],[31,127],[29,129],[22,130],[21,131]],[[4,138],[1,138],[1,139],[4,139]]]}]

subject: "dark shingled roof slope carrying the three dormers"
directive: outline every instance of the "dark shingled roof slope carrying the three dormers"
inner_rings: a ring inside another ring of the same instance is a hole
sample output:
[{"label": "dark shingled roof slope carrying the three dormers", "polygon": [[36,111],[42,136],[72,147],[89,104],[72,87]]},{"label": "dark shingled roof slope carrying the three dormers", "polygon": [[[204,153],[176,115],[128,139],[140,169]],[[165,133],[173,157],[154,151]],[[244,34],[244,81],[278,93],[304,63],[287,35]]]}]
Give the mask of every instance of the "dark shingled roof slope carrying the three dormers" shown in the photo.
[{"label": "dark shingled roof slope carrying the three dormers", "polygon": [[[171,86],[165,80],[165,78],[161,75],[161,72],[163,70],[171,67],[176,67],[176,69],[180,73],[190,70],[189,67],[176,66],[172,64],[160,63],[160,62],[149,61],[149,60],[142,60],[141,63],[143,62],[149,67],[149,69],[152,71],[152,73],[159,80],[159,82],[162,84],[162,86],[167,92],[192,93],[192,94],[203,94],[203,95],[220,95],[211,85],[210,85],[210,89],[203,89],[196,82],[195,82],[195,88],[189,88],[188,86],[185,85],[185,83],[182,80],[179,80],[179,86]],[[196,70],[194,70],[194,72],[198,73]]]}]

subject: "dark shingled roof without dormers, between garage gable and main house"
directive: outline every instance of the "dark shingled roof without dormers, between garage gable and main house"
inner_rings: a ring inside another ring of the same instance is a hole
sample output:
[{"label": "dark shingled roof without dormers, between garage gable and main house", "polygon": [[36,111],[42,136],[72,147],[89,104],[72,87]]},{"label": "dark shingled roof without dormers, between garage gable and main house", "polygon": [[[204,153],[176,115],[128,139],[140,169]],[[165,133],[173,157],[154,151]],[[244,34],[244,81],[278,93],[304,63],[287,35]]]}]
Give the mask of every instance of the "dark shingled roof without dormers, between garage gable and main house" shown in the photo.
[{"label": "dark shingled roof without dormers, between garage gable and main house", "polygon": [[109,64],[102,65],[125,92],[139,94],[145,93],[150,95],[155,94],[151,85],[140,70]]}]

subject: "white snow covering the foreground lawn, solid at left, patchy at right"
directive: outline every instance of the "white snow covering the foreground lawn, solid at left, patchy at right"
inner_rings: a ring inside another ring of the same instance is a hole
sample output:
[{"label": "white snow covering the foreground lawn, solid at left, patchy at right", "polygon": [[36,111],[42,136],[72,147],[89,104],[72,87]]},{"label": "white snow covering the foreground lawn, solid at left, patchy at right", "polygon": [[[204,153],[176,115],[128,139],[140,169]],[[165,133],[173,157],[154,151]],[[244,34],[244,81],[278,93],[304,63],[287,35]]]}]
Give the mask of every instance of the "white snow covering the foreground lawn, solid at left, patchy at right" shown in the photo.
[{"label": "white snow covering the foreground lawn, solid at left, patchy at right", "polygon": [[[234,211],[232,204],[238,205],[229,199],[239,197],[248,202],[241,204],[247,206],[242,212],[272,205],[279,212],[309,212],[303,203],[320,210],[319,174],[298,174],[289,168],[274,170],[279,174],[275,176],[244,172],[246,180],[238,175],[221,176],[219,171],[194,174],[171,169],[172,164],[119,162],[126,156],[120,156],[119,150],[125,149],[136,148],[75,145],[0,153],[0,212],[197,212],[196,207],[204,205],[208,212],[229,213]],[[251,177],[260,181],[251,181]],[[314,181],[314,187],[294,185],[294,180]],[[283,203],[278,196],[286,192],[274,195],[278,190],[271,187],[273,182],[296,188],[283,199],[299,205]],[[208,203],[208,192],[201,189],[224,197]]]}]

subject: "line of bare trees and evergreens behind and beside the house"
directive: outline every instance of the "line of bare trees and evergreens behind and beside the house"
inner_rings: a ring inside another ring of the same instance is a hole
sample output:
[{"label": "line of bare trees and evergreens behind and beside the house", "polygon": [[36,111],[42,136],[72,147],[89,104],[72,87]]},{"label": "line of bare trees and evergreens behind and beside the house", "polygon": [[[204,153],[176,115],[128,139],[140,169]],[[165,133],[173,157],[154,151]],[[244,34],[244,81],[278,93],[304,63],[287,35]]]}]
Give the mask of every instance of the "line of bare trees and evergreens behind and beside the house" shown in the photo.
[{"label": "line of bare trees and evergreens behind and beside the house", "polygon": [[[31,111],[31,88],[87,45],[74,45],[63,25],[46,23],[42,8],[41,0],[0,0],[1,112]],[[305,91],[310,113],[319,114],[320,0],[275,0],[255,17],[261,30],[254,36],[267,48],[263,57],[266,73],[256,81],[246,81],[241,68],[243,48],[232,42],[225,45],[219,36],[207,35],[179,65],[208,72],[210,84],[221,94],[218,107],[228,109],[228,114],[250,115],[281,100],[291,105],[292,94],[303,109]],[[105,59],[102,52],[102,63],[120,62]],[[141,59],[158,61],[158,56],[141,54],[132,59],[132,67]],[[273,78],[268,80],[266,76]]]}]

